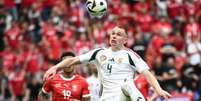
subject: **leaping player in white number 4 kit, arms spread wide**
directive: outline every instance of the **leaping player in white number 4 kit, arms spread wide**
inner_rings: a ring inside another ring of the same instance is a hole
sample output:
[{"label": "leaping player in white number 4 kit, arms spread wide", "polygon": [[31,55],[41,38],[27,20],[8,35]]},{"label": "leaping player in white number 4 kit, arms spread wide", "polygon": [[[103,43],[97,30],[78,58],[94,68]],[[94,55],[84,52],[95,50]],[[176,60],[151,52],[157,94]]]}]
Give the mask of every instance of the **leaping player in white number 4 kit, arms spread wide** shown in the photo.
[{"label": "leaping player in white number 4 kit, arms spread wide", "polygon": [[110,47],[94,49],[85,54],[68,58],[46,71],[44,79],[51,78],[61,68],[94,61],[103,86],[101,101],[145,101],[134,85],[135,72],[145,76],[155,92],[165,99],[171,95],[164,91],[148,65],[133,51],[126,48],[128,35],[125,29],[114,27],[110,32]]}]

